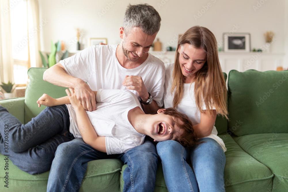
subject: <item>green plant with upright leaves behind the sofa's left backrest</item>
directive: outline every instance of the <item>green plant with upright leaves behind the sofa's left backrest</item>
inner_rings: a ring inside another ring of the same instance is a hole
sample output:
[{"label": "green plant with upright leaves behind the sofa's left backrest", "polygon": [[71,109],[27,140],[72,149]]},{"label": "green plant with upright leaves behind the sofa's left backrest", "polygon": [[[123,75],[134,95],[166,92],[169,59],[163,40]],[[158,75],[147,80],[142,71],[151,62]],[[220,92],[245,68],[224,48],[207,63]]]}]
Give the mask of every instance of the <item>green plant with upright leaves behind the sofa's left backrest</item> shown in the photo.
[{"label": "green plant with upright leaves behind the sofa's left backrest", "polygon": [[[42,64],[44,67],[49,68],[56,64],[56,54],[59,54],[59,55],[63,54],[60,49],[61,49],[61,44],[59,41],[55,44],[51,41],[51,53],[50,55],[47,54],[48,61],[46,61],[46,58],[43,56],[42,52],[39,51]],[[69,52],[66,50],[66,52],[62,55],[61,60],[67,58],[68,54]]]}]

